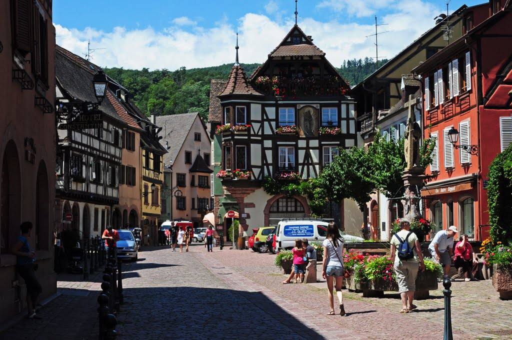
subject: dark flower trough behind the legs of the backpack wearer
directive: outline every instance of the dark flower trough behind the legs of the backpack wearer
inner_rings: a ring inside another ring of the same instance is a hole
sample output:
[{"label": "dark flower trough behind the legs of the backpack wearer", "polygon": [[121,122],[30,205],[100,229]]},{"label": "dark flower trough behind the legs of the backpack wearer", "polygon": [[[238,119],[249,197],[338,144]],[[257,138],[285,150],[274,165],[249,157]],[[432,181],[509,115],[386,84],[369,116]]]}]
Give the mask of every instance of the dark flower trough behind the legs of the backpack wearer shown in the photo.
[{"label": "dark flower trough behind the legs of the backpack wearer", "polygon": [[[361,292],[364,298],[383,298],[385,291],[398,291],[395,280],[372,280],[369,282],[355,282],[353,275],[347,278],[347,288],[355,292]],[[424,300],[430,297],[430,290],[437,289],[437,274],[431,271],[418,272],[416,278],[416,300]]]}]

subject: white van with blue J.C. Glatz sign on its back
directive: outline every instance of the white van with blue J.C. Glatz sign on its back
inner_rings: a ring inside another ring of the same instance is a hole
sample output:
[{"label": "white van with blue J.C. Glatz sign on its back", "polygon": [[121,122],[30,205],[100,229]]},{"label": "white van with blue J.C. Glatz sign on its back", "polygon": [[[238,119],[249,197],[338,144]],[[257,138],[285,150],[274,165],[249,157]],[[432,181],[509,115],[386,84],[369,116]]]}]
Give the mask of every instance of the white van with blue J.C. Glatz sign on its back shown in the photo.
[{"label": "white van with blue J.C. Glatz sign on its back", "polygon": [[[307,239],[311,242],[324,242],[327,237],[329,222],[322,220],[283,220],[279,221],[275,230],[275,252],[280,249],[291,249],[296,239]],[[362,242],[362,237],[345,235],[340,231],[346,243]]]}]

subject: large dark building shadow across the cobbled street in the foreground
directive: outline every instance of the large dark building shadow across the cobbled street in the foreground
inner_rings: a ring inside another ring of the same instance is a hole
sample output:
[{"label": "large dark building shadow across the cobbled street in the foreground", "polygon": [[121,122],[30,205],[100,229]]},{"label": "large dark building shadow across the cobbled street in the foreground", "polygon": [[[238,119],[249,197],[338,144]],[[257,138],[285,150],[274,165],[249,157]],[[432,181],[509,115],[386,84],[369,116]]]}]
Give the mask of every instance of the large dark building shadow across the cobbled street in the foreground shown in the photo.
[{"label": "large dark building shadow across the cobbled street in the foreground", "polygon": [[[146,287],[125,288],[123,295],[131,307],[121,306],[118,338],[324,339],[261,292]],[[169,317],[174,321],[164,322]]]}]

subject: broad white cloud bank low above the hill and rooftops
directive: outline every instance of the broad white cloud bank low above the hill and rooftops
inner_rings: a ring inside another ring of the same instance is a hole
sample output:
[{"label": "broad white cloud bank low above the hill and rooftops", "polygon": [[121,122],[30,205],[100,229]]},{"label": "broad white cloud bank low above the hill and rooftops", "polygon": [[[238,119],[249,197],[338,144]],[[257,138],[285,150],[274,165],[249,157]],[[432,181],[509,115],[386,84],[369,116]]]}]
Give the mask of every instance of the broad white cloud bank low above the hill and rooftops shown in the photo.
[{"label": "broad white cloud bank low above the hill and rooftops", "polygon": [[[377,0],[387,1],[387,0]],[[399,1],[399,0],[396,0]],[[379,37],[379,55],[394,56],[400,50],[434,25],[438,13],[430,3],[421,0],[400,0],[396,11],[380,17],[379,22],[389,24],[391,32]],[[127,30],[115,27],[112,31],[93,28],[68,29],[55,25],[57,43],[81,56],[87,52],[87,41],[92,48],[106,48],[93,53],[92,61],[100,66],[131,69],[186,68],[216,66],[234,62],[234,45],[238,31],[241,62],[264,62],[268,53],[281,42],[293,26],[291,18],[271,19],[263,14],[247,13],[237,23],[221,19],[211,28],[174,25],[162,31],[152,27]],[[375,55],[371,24],[319,22],[311,17],[302,18],[300,26],[312,35],[315,44],[327,53],[334,66],[344,59]]]}]

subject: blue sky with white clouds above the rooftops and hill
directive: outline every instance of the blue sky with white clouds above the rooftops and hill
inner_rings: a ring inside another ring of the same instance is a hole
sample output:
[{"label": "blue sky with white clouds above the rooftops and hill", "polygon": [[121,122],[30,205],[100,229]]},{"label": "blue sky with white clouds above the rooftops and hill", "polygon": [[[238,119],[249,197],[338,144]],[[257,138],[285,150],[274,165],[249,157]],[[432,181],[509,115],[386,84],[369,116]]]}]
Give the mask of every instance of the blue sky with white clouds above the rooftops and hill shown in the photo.
[{"label": "blue sky with white clouds above the rooftops and hill", "polygon": [[[450,11],[484,0],[451,0]],[[244,62],[263,62],[293,25],[293,0],[54,0],[57,43],[83,55],[87,41],[105,48],[100,66],[177,69],[232,61],[240,32]],[[434,25],[445,11],[440,0],[299,0],[298,24],[336,66],[373,56],[374,15],[388,24],[382,55],[392,56]]]}]

